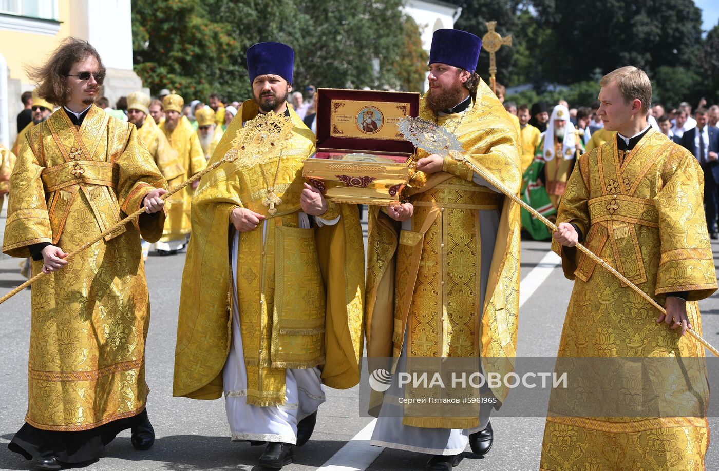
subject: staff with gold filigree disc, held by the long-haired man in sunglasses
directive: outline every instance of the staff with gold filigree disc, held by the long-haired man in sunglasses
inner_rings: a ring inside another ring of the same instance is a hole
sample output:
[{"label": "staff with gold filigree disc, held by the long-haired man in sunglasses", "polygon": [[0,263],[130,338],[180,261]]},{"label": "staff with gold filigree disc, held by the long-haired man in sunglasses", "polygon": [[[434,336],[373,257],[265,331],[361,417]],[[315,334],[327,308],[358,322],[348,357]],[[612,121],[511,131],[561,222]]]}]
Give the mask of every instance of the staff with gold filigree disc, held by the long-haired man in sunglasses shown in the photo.
[{"label": "staff with gold filigree disc, held by the long-haired man in sunglasses", "polygon": [[[235,160],[238,160],[239,162],[247,164],[247,162],[251,159],[259,158],[260,155],[265,159],[271,159],[272,157],[280,154],[280,151],[287,144],[287,138],[292,132],[293,127],[294,125],[290,118],[284,115],[278,115],[273,111],[270,111],[267,114],[260,114],[256,118],[247,121],[247,123],[244,123],[242,131],[240,131],[232,140],[232,148],[224,154],[224,157],[209,165],[203,171],[186,179],[184,182],[180,183],[180,185],[165,193],[165,195],[162,195],[162,200],[167,200],[176,192],[182,190],[187,185],[190,185],[195,180],[200,179],[203,175],[211,172],[225,162],[234,162]],[[68,256],[66,256],[64,260],[70,260],[70,258],[73,258],[78,253],[81,253],[86,248],[91,247],[101,238],[113,233],[117,228],[139,218],[142,213],[145,213],[145,206],[128,215],[127,218],[111,225],[101,234],[95,236],[91,241],[83,243],[82,246],[75,248],[74,251],[68,253]],[[35,283],[35,281],[41,279],[43,276],[45,276],[45,273],[40,271],[39,274],[25,281],[20,286],[17,286],[17,288],[13,289],[4,297],[1,297],[0,304],[6,302],[15,294],[18,294],[23,289],[27,288],[27,286],[30,286]]]}]

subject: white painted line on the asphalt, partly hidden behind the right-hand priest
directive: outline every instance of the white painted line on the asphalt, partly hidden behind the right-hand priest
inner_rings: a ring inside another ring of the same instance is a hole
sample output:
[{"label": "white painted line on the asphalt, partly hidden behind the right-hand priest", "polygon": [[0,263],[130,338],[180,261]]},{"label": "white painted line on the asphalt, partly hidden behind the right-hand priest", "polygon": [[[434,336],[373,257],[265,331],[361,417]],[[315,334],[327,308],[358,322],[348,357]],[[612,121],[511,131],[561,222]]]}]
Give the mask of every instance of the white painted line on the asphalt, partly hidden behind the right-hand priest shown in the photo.
[{"label": "white painted line on the asphalt, partly hidden behind the right-hand priest", "polygon": [[[546,280],[557,265],[561,263],[562,258],[552,251],[549,251],[542,257],[539,264],[537,264],[519,284],[519,307],[522,307],[522,304],[536,292],[539,286],[544,283],[544,280]],[[352,437],[352,440],[333,454],[324,465],[317,468],[318,471],[367,470],[367,468],[375,462],[377,457],[380,456],[380,453],[385,451],[383,447],[373,447],[370,445],[375,424],[377,424],[377,419],[372,419],[364,429]]]}]

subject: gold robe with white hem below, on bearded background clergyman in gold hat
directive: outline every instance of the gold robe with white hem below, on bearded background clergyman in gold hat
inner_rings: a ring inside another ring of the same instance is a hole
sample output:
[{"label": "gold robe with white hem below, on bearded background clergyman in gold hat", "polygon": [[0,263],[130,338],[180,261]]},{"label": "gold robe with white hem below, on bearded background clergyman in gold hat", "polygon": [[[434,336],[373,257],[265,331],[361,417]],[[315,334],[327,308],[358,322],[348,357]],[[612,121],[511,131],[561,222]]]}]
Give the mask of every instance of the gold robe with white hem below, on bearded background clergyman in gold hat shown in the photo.
[{"label": "gold robe with white hem below, on bearded background clergyman in gold hat", "polygon": [[[173,149],[178,152],[180,165],[185,169],[182,179],[178,178],[179,183],[202,172],[207,167],[207,159],[203,154],[200,139],[186,116],[180,118],[178,126],[172,132],[165,128],[164,121],[160,124],[160,129],[170,141],[170,146],[173,146]],[[190,205],[193,192],[191,185],[188,185],[170,197],[168,220],[160,241],[184,239],[190,233]]]}]

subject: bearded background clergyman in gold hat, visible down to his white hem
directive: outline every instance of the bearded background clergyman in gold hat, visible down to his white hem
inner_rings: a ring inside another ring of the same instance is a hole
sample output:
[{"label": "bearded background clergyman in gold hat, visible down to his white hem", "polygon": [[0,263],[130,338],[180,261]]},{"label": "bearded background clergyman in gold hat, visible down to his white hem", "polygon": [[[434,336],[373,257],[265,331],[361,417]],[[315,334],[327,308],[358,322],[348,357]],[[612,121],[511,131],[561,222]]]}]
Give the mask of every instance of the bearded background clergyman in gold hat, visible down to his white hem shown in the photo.
[{"label": "bearded background clergyman in gold hat, visible down to his white hem", "polygon": [[[182,116],[185,100],[176,93],[162,98],[165,109],[165,121],[160,129],[170,141],[170,146],[178,152],[180,165],[185,169],[184,181],[207,167],[207,159],[203,154],[200,140],[190,121]],[[183,188],[170,197],[170,212],[165,222],[165,231],[155,246],[161,255],[177,253],[185,247],[190,235],[190,203],[198,181]]]}]

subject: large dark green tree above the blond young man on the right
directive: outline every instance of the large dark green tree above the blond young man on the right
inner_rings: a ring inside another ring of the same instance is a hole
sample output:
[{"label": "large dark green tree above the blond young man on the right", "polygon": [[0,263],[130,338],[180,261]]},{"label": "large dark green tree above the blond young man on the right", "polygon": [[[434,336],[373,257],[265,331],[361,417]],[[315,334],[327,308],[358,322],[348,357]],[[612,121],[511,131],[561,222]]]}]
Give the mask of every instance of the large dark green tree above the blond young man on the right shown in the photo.
[{"label": "large dark green tree above the blond young man on the right", "polygon": [[695,70],[700,54],[701,11],[693,0],[533,0],[545,37],[533,44],[549,82],[587,80],[595,68],[608,73],[636,65],[650,78],[661,66]]}]

